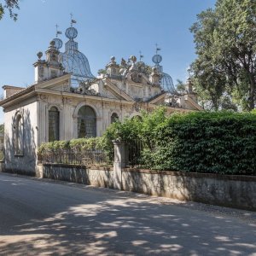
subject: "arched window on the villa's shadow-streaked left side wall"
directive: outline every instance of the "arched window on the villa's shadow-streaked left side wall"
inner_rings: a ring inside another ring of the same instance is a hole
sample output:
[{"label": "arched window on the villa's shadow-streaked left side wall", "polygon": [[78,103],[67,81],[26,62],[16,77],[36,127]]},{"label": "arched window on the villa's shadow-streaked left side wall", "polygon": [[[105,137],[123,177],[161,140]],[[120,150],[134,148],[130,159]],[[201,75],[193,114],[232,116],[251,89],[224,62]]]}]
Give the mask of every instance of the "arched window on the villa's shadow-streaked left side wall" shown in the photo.
[{"label": "arched window on the villa's shadow-streaked left side wall", "polygon": [[23,122],[20,114],[15,119],[15,154],[23,154],[24,134],[23,134]]}]

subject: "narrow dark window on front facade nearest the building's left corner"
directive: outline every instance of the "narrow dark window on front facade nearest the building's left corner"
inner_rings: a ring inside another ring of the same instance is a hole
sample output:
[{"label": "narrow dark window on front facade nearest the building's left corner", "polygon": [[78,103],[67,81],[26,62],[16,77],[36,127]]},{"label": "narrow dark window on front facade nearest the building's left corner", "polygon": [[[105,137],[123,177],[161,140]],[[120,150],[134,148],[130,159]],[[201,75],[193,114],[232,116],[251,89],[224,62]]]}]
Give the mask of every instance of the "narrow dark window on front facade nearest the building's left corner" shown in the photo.
[{"label": "narrow dark window on front facade nearest the building's left corner", "polygon": [[49,142],[60,139],[60,113],[58,108],[49,109]]}]

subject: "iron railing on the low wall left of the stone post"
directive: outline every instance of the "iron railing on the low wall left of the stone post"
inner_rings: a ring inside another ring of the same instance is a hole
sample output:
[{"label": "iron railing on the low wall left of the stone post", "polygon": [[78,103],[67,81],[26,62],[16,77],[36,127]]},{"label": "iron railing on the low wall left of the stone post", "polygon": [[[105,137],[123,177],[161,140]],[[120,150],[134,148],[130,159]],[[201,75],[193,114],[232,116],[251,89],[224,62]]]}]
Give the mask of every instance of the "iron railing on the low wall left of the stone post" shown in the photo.
[{"label": "iron railing on the low wall left of the stone post", "polygon": [[108,165],[108,157],[102,150],[89,149],[83,151],[70,149],[44,150],[38,153],[38,163],[71,164],[81,166]]}]

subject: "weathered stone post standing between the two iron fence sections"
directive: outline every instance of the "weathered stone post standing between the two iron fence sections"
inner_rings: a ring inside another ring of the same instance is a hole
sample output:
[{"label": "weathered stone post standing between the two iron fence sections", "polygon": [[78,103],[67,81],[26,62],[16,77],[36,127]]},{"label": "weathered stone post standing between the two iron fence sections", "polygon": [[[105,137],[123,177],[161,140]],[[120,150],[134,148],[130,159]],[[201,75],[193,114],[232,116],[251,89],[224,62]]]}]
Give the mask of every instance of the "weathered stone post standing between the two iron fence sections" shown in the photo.
[{"label": "weathered stone post standing between the two iron fence sections", "polygon": [[122,190],[122,168],[127,165],[127,150],[124,142],[113,140],[113,189]]}]

